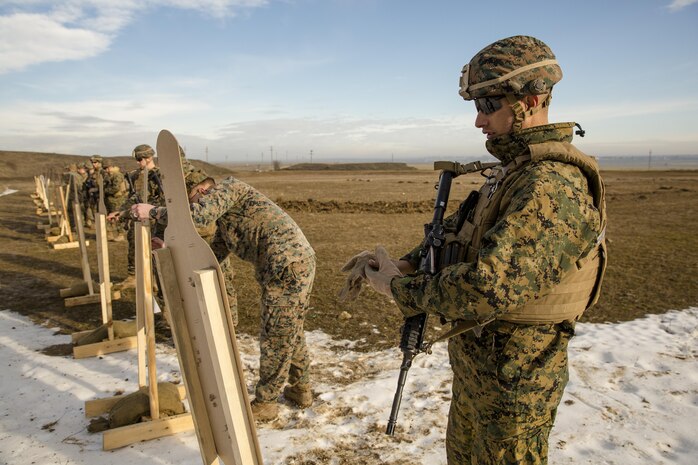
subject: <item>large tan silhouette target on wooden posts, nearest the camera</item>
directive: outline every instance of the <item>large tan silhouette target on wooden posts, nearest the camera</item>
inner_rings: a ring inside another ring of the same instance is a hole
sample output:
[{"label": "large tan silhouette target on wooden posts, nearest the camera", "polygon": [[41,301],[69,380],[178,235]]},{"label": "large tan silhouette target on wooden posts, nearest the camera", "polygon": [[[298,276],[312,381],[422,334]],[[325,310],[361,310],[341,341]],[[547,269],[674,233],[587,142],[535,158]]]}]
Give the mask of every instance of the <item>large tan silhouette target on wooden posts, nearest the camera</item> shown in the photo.
[{"label": "large tan silhouette target on wooden posts, nearest the camera", "polygon": [[167,247],[155,251],[160,284],[204,465],[262,465],[255,420],[218,262],[196,232],[179,144],[157,142],[167,199]]}]

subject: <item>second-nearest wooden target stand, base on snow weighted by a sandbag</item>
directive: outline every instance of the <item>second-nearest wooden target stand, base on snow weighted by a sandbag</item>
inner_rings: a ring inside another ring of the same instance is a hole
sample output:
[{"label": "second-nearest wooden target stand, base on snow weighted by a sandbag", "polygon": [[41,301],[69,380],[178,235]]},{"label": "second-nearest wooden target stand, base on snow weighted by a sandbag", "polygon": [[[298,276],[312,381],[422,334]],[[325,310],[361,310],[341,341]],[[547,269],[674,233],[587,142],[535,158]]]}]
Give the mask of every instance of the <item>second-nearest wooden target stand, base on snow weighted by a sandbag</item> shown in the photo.
[{"label": "second-nearest wooden target stand, base on snow weighted by a sandbag", "polygon": [[[147,178],[147,170],[145,171]],[[141,197],[147,202],[148,184],[144,183]],[[102,448],[117,449],[141,441],[170,436],[194,428],[191,413],[160,418],[157,366],[155,360],[155,318],[153,310],[153,267],[149,221],[135,223],[136,242],[136,328],[138,347],[138,387],[147,388],[150,416],[140,423],[121,426],[102,433]],[[184,400],[186,390],[179,386],[179,398]],[[85,402],[85,416],[93,417],[108,412],[126,394]]]}]

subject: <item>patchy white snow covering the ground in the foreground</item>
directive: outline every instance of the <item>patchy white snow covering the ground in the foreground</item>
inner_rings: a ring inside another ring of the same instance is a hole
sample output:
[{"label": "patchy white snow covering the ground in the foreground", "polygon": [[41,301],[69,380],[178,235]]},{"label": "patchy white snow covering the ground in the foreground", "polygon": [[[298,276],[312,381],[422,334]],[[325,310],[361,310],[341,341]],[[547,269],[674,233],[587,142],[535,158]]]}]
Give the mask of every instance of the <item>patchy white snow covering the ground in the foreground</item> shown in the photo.
[{"label": "patchy white snow covering the ground in the foreground", "polygon": [[[622,324],[580,324],[570,383],[550,438],[551,464],[698,463],[698,308]],[[197,464],[193,431],[114,451],[86,431],[85,401],[136,387],[135,352],[74,360],[41,349],[70,338],[0,311],[0,463]],[[266,464],[445,464],[450,369],[444,344],[410,370],[398,432],[384,434],[401,355],[361,353],[350,341],[308,334],[318,398],[284,405],[258,428]],[[255,340],[240,339],[250,378]],[[158,346],[161,380],[177,380],[174,349]],[[248,379],[248,384],[251,384]]]}]

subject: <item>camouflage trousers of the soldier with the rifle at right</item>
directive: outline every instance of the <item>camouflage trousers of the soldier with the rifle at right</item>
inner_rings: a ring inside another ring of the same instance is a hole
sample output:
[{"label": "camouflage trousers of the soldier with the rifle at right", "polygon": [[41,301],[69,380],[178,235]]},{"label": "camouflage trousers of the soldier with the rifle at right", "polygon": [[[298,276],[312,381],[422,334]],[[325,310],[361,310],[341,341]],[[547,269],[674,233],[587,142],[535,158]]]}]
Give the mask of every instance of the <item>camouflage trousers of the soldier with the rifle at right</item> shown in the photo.
[{"label": "camouflage trousers of the soldier with the rifle at right", "polygon": [[449,465],[547,464],[573,335],[570,323],[496,321],[479,338],[467,333],[449,341]]}]

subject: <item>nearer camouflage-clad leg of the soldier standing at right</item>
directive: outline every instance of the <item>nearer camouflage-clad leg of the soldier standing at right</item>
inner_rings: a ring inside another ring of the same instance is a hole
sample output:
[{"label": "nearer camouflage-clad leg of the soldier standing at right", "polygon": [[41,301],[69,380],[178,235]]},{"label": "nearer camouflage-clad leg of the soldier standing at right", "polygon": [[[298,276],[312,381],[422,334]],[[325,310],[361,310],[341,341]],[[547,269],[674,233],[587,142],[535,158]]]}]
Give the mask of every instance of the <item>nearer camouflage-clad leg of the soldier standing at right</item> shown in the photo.
[{"label": "nearer camouflage-clad leg of the soldier standing at right", "polygon": [[568,324],[504,323],[485,337],[481,347],[490,345],[492,364],[479,373],[472,463],[547,464],[573,334]]}]

